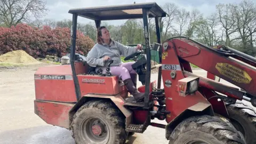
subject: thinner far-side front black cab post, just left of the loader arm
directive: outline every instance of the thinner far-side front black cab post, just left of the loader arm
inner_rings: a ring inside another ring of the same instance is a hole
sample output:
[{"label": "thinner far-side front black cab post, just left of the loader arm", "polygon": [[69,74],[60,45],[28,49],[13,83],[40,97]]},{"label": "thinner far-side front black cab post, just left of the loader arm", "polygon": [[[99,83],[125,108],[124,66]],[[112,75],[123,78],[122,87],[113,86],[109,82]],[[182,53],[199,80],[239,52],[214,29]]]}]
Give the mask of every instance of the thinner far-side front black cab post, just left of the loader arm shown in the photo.
[{"label": "thinner far-side front black cab post, just left of the loader arm", "polygon": [[[160,27],[159,27],[159,19],[158,17],[155,17],[155,22],[156,22],[156,36],[157,36],[157,43],[162,44],[161,41],[161,32],[160,32]],[[162,47],[159,50],[159,64],[162,63]],[[162,67],[158,68],[158,81],[157,81],[157,89],[161,88],[161,79],[162,79]]]}]

